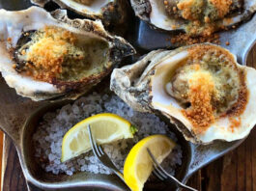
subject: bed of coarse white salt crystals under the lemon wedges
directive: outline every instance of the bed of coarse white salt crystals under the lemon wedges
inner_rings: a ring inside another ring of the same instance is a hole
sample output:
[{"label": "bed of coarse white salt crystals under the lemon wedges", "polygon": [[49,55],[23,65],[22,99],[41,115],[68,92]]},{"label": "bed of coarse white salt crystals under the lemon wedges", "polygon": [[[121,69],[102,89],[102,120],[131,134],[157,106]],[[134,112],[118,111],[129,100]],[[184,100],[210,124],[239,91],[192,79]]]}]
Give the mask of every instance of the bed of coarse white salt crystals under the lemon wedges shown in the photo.
[{"label": "bed of coarse white salt crystals under the lemon wedges", "polygon": [[[75,172],[90,172],[94,174],[110,174],[110,170],[103,166],[93,155],[92,151],[81,154],[70,161],[62,163],[61,146],[65,133],[75,124],[87,117],[99,113],[114,113],[138,128],[133,139],[121,140],[116,143],[103,145],[103,149],[120,170],[123,170],[128,151],[139,140],[153,134],[165,134],[174,141],[177,138],[166,123],[160,121],[154,114],[134,111],[117,95],[92,95],[77,99],[73,104],[66,105],[56,112],[43,116],[38,130],[33,136],[35,156],[39,158],[42,168],[55,175]],[[162,166],[171,174],[175,173],[177,165],[182,164],[182,150],[179,145],[163,161]]]}]

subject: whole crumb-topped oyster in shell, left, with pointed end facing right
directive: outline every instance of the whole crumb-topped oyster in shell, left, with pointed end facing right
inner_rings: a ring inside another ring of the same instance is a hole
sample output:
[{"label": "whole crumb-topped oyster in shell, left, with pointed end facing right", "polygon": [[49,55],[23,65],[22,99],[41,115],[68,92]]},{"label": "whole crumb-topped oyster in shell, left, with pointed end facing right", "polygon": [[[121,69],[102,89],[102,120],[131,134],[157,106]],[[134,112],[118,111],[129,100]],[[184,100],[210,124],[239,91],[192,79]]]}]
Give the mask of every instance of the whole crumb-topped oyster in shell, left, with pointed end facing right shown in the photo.
[{"label": "whole crumb-topped oyster in shell, left, with pointed end facing right", "polygon": [[76,98],[134,49],[110,36],[100,20],[74,19],[32,7],[0,11],[0,71],[18,95]]}]

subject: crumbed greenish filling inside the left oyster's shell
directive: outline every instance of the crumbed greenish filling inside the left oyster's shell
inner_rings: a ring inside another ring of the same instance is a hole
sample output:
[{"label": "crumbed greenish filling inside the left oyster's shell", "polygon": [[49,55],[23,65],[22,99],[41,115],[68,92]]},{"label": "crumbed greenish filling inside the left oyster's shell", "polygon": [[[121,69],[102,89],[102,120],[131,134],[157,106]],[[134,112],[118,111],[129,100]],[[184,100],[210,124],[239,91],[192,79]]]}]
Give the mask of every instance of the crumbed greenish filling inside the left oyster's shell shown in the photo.
[{"label": "crumbed greenish filling inside the left oyster's shell", "polygon": [[103,69],[108,45],[97,39],[79,39],[71,31],[46,26],[35,32],[25,33],[31,41],[14,51],[15,68],[34,79],[75,81],[92,71],[92,63]]}]

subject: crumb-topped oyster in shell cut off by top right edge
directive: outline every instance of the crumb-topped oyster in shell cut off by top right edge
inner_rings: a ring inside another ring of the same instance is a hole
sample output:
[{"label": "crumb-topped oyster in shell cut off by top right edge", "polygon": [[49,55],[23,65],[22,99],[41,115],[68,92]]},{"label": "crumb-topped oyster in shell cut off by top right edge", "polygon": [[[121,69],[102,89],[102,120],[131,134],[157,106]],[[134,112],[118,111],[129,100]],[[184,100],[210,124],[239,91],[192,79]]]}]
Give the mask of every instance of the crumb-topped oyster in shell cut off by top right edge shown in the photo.
[{"label": "crumb-topped oyster in shell cut off by top right edge", "polygon": [[190,35],[213,32],[246,21],[256,0],[130,0],[135,14],[155,28],[185,30]]}]

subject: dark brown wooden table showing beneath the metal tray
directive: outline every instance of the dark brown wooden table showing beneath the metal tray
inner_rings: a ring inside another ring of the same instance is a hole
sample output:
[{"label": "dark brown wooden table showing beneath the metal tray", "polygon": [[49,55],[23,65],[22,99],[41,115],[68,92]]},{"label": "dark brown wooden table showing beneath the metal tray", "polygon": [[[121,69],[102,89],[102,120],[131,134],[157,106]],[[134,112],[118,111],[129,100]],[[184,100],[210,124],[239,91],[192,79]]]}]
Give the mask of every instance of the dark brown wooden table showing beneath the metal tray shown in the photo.
[{"label": "dark brown wooden table showing beneath the metal tray", "polygon": [[[247,65],[256,68],[256,46]],[[7,137],[2,173],[2,191],[27,190],[14,145]],[[200,170],[189,179],[188,184],[202,191],[256,191],[256,127],[237,150]]]}]

